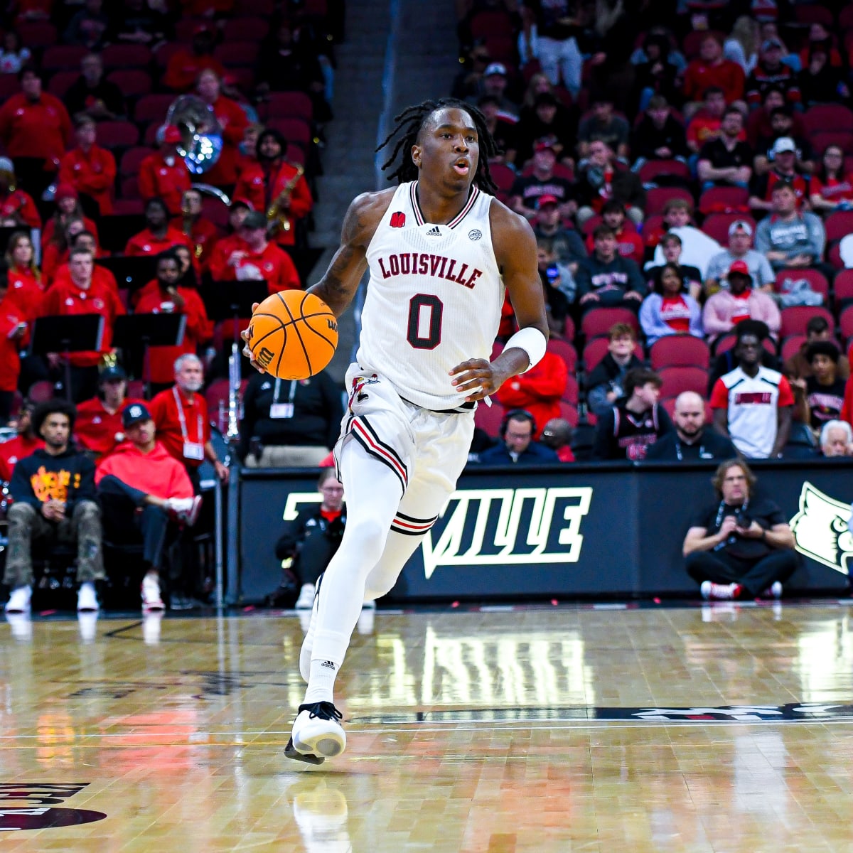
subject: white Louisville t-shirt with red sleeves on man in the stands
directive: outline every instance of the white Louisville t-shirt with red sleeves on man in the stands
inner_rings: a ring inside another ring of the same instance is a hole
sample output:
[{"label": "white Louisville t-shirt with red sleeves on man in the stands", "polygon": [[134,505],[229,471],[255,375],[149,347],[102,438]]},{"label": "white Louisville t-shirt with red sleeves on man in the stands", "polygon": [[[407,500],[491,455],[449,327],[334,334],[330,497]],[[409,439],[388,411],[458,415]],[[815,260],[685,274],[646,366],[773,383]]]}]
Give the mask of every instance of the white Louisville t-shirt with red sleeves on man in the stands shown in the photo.
[{"label": "white Louisville t-shirt with red sleeves on man in the stands", "polygon": [[734,368],[711,392],[711,409],[728,409],[728,434],[747,459],[766,459],[776,441],[777,412],[792,406],[788,380],[778,370],[758,368],[747,376]]}]

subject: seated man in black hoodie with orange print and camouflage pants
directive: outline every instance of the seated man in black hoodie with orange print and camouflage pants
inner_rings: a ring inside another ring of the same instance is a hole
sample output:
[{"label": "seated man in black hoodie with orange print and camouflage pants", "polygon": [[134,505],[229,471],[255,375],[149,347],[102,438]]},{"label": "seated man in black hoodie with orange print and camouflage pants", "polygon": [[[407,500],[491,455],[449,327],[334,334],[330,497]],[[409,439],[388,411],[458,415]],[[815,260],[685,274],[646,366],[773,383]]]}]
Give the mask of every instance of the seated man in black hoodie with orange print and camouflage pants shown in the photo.
[{"label": "seated man in black hoodie with orange print and camouflage pants", "polygon": [[29,612],[32,543],[77,543],[78,610],[97,610],[95,582],[104,577],[101,510],[95,494],[95,463],[74,447],[76,409],[66,400],[41,403],[32,426],[44,449],[15,465],[9,492],[9,551],[3,583],[12,590],[7,612]]}]

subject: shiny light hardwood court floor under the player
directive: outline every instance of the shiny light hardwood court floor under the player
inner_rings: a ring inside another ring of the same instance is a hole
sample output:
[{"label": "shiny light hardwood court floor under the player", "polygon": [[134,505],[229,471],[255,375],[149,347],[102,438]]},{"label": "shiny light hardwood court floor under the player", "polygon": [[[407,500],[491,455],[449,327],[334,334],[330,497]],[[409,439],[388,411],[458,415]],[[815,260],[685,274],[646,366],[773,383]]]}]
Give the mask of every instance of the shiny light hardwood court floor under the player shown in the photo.
[{"label": "shiny light hardwood court floor under the player", "polygon": [[0,624],[3,851],[853,851],[848,603],[380,610],[320,768],[282,755],[301,638]]}]

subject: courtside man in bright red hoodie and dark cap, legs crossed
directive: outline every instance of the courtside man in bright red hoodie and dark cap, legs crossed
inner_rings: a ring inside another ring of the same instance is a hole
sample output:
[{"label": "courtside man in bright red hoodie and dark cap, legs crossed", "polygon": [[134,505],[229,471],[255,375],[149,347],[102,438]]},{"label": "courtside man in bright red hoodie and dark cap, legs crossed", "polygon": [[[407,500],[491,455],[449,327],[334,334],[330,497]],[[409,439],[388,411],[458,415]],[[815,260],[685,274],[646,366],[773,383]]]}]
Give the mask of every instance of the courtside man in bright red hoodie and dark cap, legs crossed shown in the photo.
[{"label": "courtside man in bright red hoodie and dark cap, legs crossed", "polygon": [[128,438],[95,472],[107,538],[125,543],[142,535],[142,609],[162,610],[160,569],[170,524],[192,526],[200,496],[194,496],[187,469],[157,441],[154,421],[143,403],[121,413]]}]

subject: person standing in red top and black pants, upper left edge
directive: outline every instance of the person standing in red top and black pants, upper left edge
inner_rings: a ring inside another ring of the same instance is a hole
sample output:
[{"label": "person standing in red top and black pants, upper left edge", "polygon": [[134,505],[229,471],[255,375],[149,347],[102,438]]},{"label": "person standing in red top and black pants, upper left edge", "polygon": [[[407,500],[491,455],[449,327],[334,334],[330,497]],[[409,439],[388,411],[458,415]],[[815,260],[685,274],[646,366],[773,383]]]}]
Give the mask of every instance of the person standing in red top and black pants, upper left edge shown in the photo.
[{"label": "person standing in red top and black pants, upper left edge", "polygon": [[33,194],[41,194],[65,154],[71,119],[59,98],[42,91],[38,72],[25,68],[19,76],[20,93],[0,107],[0,142],[12,160],[42,161],[20,174],[21,183]]}]

